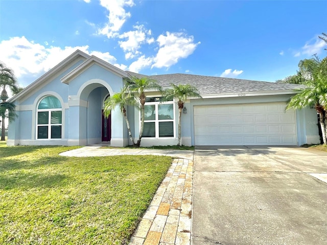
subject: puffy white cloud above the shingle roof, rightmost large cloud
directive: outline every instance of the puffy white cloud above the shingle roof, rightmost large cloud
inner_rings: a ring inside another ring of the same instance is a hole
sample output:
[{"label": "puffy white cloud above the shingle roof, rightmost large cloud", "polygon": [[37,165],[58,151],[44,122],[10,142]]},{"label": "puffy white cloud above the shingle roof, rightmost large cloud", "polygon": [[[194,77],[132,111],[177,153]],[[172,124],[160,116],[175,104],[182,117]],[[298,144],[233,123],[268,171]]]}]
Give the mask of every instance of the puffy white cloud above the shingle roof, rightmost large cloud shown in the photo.
[{"label": "puffy white cloud above the shingle roof, rightmost large cloud", "polygon": [[200,42],[194,43],[193,36],[170,32],[167,32],[166,36],[160,35],[157,42],[159,43],[159,50],[154,58],[155,63],[152,68],[170,67],[176,64],[179,59],[191,55],[197,45],[200,44]]}]

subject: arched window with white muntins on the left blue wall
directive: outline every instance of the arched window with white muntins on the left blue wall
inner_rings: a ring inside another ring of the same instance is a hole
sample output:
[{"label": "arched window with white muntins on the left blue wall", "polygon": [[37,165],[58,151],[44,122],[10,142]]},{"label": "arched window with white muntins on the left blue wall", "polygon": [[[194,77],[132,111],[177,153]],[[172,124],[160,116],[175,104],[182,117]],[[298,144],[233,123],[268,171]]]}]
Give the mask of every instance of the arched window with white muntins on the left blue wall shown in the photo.
[{"label": "arched window with white muntins on the left blue wall", "polygon": [[55,96],[44,97],[37,107],[37,138],[61,139],[62,110]]}]

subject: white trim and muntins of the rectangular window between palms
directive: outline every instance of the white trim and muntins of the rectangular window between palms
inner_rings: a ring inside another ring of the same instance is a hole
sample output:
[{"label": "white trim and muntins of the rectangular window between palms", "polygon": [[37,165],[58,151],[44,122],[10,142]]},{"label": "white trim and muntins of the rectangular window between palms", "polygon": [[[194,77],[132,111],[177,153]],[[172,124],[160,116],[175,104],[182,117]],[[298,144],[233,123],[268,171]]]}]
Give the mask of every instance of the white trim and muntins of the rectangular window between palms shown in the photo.
[{"label": "white trim and muntins of the rectangular window between palms", "polygon": [[[149,97],[154,97],[154,96],[149,96]],[[158,105],[165,105],[165,104],[172,104],[173,105],[173,115],[174,115],[174,119],[168,119],[168,120],[159,120],[158,119]],[[175,127],[175,124],[176,124],[176,113],[175,113],[175,99],[173,101],[165,101],[165,102],[146,102],[145,103],[145,106],[147,105],[155,105],[155,119],[154,120],[145,120],[144,123],[146,122],[154,122],[155,123],[155,137],[144,137],[144,138],[147,138],[147,139],[172,139],[172,138],[176,138],[176,127]],[[141,111],[139,111],[139,129],[138,130],[141,130]],[[162,121],[173,121],[173,130],[174,130],[174,136],[169,136],[169,137],[159,137],[159,122],[162,122]],[[143,136],[142,136],[143,137]]]}]

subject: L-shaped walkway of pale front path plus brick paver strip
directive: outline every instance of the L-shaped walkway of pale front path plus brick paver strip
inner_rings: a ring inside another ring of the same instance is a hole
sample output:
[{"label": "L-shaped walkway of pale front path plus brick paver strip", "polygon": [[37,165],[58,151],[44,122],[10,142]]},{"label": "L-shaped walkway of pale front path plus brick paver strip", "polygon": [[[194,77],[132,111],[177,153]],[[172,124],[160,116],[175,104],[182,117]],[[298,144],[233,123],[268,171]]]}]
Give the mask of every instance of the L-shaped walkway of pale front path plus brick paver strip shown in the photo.
[{"label": "L-shaped walkway of pale front path plus brick paver strip", "polygon": [[130,245],[191,244],[194,151],[105,149],[101,145],[85,146],[60,153],[67,157],[118,155],[157,155],[174,157]]}]

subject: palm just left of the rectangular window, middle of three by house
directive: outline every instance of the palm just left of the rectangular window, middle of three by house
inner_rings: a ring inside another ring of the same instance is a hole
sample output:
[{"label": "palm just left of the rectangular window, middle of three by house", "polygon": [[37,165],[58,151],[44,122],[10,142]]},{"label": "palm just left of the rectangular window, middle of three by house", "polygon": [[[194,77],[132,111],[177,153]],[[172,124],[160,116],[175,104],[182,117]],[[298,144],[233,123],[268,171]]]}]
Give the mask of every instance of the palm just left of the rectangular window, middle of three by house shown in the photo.
[{"label": "palm just left of the rectangular window, middle of three by house", "polygon": [[155,80],[146,77],[144,78],[131,77],[130,79],[126,79],[125,82],[126,82],[125,88],[130,93],[136,93],[138,96],[139,104],[141,104],[141,128],[139,129],[138,140],[136,142],[136,146],[139,147],[139,145],[141,144],[141,138],[144,128],[144,117],[145,117],[144,105],[146,102],[145,91],[146,90],[162,91],[162,88]]}]

